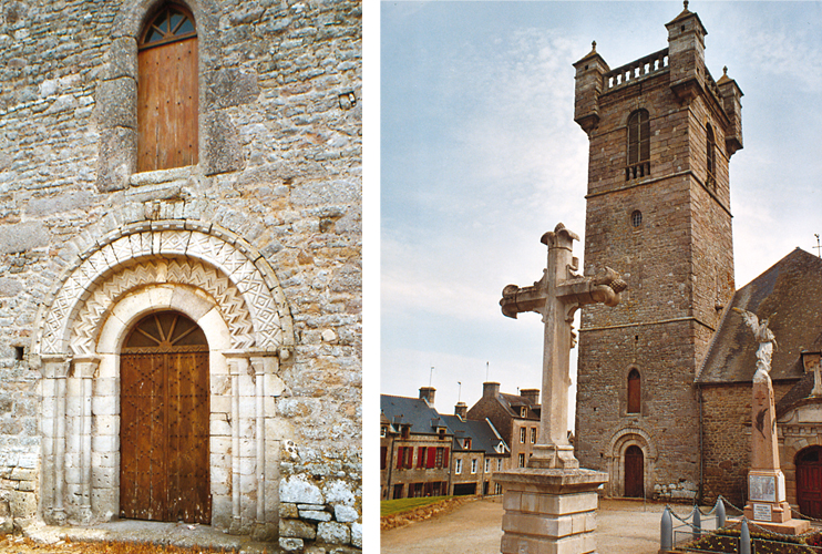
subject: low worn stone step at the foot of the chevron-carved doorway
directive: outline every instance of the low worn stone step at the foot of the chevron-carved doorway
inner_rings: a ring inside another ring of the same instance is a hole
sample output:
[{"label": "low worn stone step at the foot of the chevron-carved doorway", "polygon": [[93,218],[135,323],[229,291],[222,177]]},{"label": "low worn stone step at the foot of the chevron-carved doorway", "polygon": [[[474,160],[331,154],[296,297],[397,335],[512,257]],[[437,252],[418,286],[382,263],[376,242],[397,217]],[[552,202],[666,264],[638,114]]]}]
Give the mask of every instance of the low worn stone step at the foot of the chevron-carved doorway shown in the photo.
[{"label": "low worn stone step at the foot of the chevron-carved doorway", "polygon": [[121,520],[88,527],[32,524],[23,529],[23,535],[44,544],[54,544],[68,537],[73,543],[137,542],[182,548],[234,548],[239,554],[261,554],[266,550],[277,552],[276,543],[255,542],[249,535],[229,535],[210,525],[189,523]]}]

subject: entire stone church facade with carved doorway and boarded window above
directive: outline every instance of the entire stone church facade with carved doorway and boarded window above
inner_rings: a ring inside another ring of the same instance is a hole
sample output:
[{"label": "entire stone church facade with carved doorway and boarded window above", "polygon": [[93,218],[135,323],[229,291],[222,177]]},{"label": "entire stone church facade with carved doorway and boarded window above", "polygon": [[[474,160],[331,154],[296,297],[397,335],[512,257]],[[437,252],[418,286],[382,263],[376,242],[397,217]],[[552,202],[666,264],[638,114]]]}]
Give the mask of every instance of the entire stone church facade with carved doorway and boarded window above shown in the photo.
[{"label": "entire stone church facade with carved doorway and boarded window above", "polygon": [[0,9],[11,516],[361,547],[361,4]]}]

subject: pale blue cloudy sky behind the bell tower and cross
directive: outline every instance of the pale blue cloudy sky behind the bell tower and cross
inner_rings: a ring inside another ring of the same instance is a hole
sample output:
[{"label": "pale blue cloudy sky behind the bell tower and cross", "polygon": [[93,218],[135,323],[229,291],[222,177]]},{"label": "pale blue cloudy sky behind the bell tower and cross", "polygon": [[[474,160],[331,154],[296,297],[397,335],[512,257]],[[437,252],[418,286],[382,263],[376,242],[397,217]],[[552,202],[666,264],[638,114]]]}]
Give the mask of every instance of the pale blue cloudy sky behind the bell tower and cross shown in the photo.
[{"label": "pale blue cloudy sky behind the bell tower and cross", "polygon": [[[588,151],[572,64],[592,41],[610,68],[667,48],[665,23],[682,3],[380,8],[380,392],[431,384],[436,409],[453,413],[486,379],[504,392],[540,388],[540,316],[506,318],[499,301],[505,285],[542,276],[540,237],[557,223],[583,238],[584,258]],[[727,66],[744,93],[744,148],[730,163],[740,288],[795,247],[818,252],[822,3],[689,10],[708,30],[708,70],[719,80]]]}]

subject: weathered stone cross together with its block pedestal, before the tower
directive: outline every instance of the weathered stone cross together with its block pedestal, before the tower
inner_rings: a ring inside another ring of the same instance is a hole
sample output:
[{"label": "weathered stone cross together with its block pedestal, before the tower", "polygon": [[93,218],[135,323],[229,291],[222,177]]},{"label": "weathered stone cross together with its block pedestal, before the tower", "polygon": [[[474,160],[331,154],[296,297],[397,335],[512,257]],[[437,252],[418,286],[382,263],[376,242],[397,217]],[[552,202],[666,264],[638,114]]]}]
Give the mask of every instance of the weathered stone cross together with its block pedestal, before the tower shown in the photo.
[{"label": "weathered stone cross together with its block pedestal, before the tower", "polygon": [[548,264],[543,277],[531,287],[508,285],[500,300],[502,312],[512,318],[523,311],[542,315],[543,403],[538,442],[527,468],[496,474],[503,486],[502,554],[538,552],[587,554],[596,551],[594,530],[598,506],[597,489],[606,473],[579,469],[568,442],[568,387],[574,312],[586,304],[619,304],[626,288],[619,275],[608,268],[594,277],[574,274],[574,233],[559,224],[545,233]]}]

